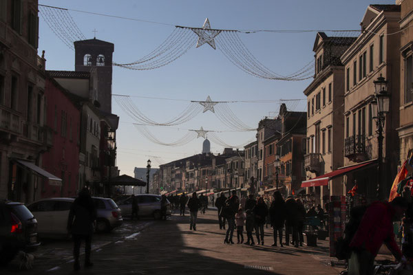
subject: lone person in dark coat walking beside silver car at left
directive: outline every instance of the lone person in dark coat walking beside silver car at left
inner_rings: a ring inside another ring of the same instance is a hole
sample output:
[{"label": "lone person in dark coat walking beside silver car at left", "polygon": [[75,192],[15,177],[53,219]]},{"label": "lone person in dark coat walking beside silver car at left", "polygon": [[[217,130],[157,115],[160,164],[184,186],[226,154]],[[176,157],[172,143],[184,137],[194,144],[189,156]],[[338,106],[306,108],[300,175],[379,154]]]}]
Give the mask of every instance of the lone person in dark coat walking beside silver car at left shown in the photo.
[{"label": "lone person in dark coat walking beside silver car at left", "polygon": [[78,197],[72,203],[67,219],[67,230],[72,234],[74,242],[74,270],[80,270],[79,255],[82,239],[85,240],[85,267],[92,267],[90,260],[92,234],[94,221],[96,220],[96,208],[87,188],[79,192]]}]

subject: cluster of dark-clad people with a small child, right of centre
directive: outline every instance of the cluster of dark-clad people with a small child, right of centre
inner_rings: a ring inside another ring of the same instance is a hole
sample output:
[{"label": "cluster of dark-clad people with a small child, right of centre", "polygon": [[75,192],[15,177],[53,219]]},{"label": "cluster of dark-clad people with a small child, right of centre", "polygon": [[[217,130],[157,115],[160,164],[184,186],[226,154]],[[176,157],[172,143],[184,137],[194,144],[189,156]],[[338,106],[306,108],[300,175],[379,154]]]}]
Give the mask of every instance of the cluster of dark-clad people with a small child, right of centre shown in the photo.
[{"label": "cluster of dark-clad people with a small child, right of centre", "polygon": [[[290,234],[295,247],[303,243],[304,221],[306,219],[306,210],[300,199],[288,197],[285,201],[279,191],[273,194],[273,202],[268,208],[262,197],[254,199],[249,195],[245,201],[240,201],[233,191],[228,199],[224,193],[216,199],[215,206],[218,208],[218,220],[220,229],[225,229],[225,223],[228,222],[228,229],[224,243],[233,243],[233,230],[237,228],[237,243],[244,243],[244,226],[246,229],[248,245],[255,245],[253,231],[257,244],[264,245],[264,225],[267,217],[273,227],[273,246],[290,245]],[[244,208],[243,208],[244,206]],[[283,229],[286,229],[285,243],[282,241]]]}]

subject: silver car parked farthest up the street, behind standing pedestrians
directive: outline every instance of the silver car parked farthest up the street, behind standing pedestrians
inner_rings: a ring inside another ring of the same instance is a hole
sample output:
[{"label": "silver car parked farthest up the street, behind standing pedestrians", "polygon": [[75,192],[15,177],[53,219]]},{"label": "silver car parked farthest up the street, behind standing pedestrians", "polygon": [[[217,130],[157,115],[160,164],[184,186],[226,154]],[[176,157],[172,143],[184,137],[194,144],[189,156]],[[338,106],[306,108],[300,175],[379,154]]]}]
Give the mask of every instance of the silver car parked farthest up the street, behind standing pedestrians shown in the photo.
[{"label": "silver car parked farthest up the street, behind standing pedestrians", "polygon": [[[154,219],[160,219],[162,217],[162,213],[160,212],[160,195],[138,194],[135,196],[138,199],[138,217],[153,217]],[[120,201],[118,205],[120,210],[122,210],[123,217],[131,217],[132,198],[130,196]],[[168,201],[167,216],[170,215],[171,203]]]}]

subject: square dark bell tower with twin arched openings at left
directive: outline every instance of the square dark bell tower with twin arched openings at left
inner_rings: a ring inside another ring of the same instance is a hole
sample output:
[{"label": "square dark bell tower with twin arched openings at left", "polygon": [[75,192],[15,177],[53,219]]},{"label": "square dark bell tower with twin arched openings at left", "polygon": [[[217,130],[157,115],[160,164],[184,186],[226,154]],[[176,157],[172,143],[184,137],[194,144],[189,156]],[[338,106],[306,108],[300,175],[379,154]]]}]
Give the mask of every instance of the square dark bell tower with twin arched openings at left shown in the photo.
[{"label": "square dark bell tower with twin arched openings at left", "polygon": [[100,110],[112,113],[112,55],[114,44],[98,39],[74,42],[74,69],[91,73],[91,100]]}]

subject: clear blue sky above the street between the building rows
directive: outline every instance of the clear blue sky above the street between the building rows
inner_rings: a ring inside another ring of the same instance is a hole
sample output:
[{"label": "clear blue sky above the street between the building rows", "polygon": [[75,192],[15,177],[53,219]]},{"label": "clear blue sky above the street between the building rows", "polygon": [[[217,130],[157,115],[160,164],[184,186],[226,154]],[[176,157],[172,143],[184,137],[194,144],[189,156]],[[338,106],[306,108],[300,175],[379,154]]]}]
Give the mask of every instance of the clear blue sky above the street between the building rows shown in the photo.
[{"label": "clear blue sky above the street between the building rows", "polygon": [[[226,30],[359,30],[370,4],[393,4],[375,0],[39,0],[39,4],[70,9],[69,13],[87,39],[114,43],[113,61],[130,63],[149,54],[175,29],[174,25],[201,28],[209,18],[211,28]],[[131,21],[84,12],[141,19]],[[45,50],[46,69],[74,70],[74,51],[61,42],[39,14],[39,54]],[[149,23],[151,21],[156,23]],[[317,32],[257,32],[239,34],[240,39],[260,63],[273,72],[288,75],[314,58]],[[328,35],[334,35],[327,32]],[[218,34],[219,35],[219,34]],[[216,42],[215,42],[216,43]],[[217,44],[217,47],[220,45]],[[231,111],[251,128],[267,117],[277,115],[279,100],[305,99],[304,89],[312,79],[301,81],[267,80],[246,74],[235,67],[218,49],[207,44],[191,48],[165,67],[147,71],[113,68],[112,94],[213,101],[263,100],[270,102],[228,103]],[[151,120],[165,122],[189,104],[177,100],[131,98]],[[293,111],[306,111],[306,101],[287,104]],[[116,164],[120,175],[134,175],[134,167],[171,162],[202,151],[202,137],[184,146],[163,146],[147,140],[134,126],[136,122],[112,98],[112,113],[120,117],[116,141]],[[178,126],[147,126],[158,140],[170,143],[188,133],[187,129],[229,130],[211,111],[200,113]],[[255,132],[216,133],[227,144],[255,140]],[[240,148],[242,149],[242,148]],[[212,153],[223,147],[211,142]]]}]

